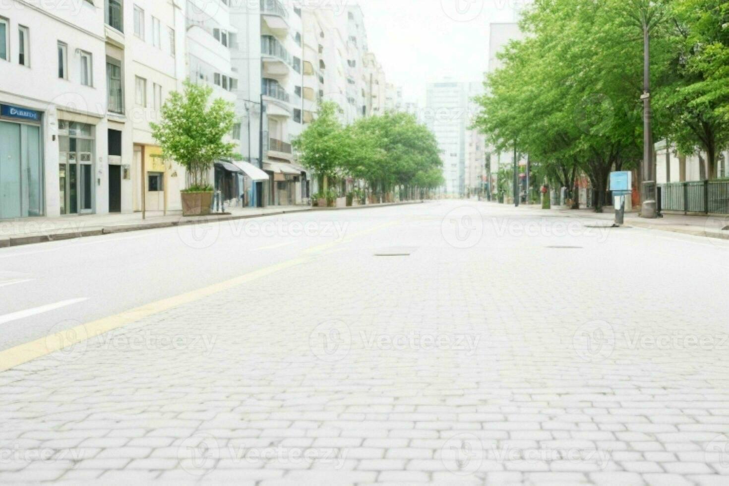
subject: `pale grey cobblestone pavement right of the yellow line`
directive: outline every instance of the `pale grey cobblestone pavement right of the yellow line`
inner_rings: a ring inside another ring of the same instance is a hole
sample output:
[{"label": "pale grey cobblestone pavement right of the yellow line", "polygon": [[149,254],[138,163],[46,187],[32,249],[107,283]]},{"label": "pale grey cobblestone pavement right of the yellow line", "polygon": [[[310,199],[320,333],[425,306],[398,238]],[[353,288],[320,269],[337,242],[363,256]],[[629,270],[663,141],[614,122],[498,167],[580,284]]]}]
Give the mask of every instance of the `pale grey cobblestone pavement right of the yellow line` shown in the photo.
[{"label": "pale grey cobblestone pavement right of the yellow line", "polygon": [[0,373],[0,481],[728,483],[729,244],[364,211],[389,226]]}]

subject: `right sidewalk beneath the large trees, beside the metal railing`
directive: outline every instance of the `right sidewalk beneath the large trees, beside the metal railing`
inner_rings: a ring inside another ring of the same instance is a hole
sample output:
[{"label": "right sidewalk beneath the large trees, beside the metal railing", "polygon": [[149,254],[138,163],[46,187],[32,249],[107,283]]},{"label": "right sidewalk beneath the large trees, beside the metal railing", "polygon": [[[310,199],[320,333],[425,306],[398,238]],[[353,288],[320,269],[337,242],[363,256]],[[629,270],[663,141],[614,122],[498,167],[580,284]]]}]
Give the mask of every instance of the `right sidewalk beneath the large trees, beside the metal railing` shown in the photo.
[{"label": "right sidewalk beneath the large trees, beside the metal railing", "polygon": [[[604,213],[596,213],[592,208],[555,208],[547,210],[542,209],[539,205],[520,205],[519,208],[534,209],[534,211],[541,211],[542,213],[558,213],[568,218],[588,218],[615,222],[615,209],[612,206],[605,207]],[[625,213],[624,226],[729,240],[729,215],[706,216],[663,213],[663,218],[644,219],[637,212],[630,212]]]}]

